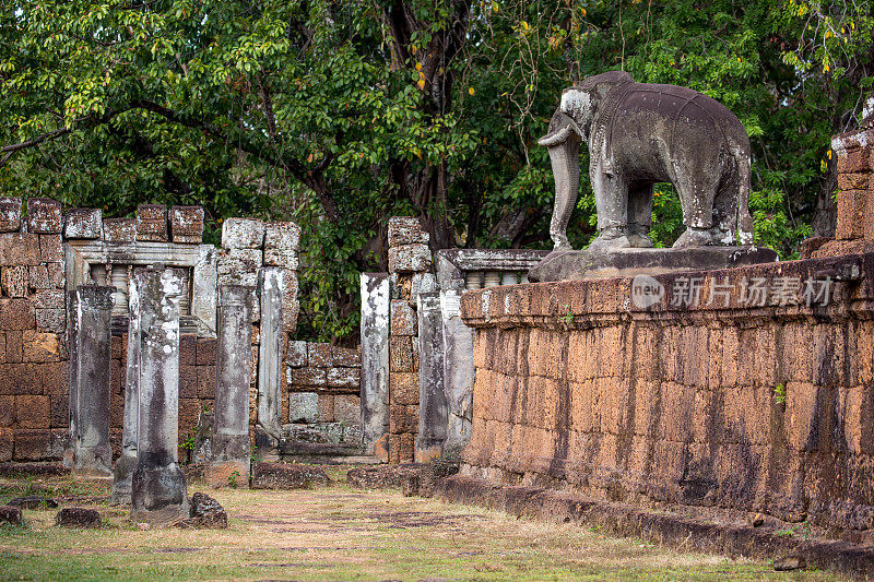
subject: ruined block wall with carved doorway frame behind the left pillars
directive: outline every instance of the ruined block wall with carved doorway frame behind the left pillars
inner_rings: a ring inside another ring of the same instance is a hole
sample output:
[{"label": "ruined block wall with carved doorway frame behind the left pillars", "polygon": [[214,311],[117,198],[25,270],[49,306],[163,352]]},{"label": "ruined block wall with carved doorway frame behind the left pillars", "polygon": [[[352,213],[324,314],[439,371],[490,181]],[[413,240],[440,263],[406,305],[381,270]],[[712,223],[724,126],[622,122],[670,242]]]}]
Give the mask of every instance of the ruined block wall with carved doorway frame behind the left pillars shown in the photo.
[{"label": "ruined block wall with carved doorway frame behind the left pillars", "polygon": [[[286,340],[292,337],[299,305],[299,228],[293,223],[232,218],[223,229],[226,247],[216,249],[202,244],[203,221],[200,206],[146,204],[139,207],[135,218],[105,218],[94,209],[64,212],[49,199],[29,199],[23,209],[20,199],[0,198],[0,462],[58,460],[63,453],[70,427],[66,292],[76,285],[119,285],[132,268],[145,264],[190,270],[180,338],[180,440],[194,435],[201,411],[212,411],[216,285],[255,286],[259,269],[281,270],[283,332]],[[117,305],[126,305],[125,285],[114,296]],[[126,336],[116,320],[110,427],[118,452]],[[252,424],[257,416],[257,309],[253,323]]]}]

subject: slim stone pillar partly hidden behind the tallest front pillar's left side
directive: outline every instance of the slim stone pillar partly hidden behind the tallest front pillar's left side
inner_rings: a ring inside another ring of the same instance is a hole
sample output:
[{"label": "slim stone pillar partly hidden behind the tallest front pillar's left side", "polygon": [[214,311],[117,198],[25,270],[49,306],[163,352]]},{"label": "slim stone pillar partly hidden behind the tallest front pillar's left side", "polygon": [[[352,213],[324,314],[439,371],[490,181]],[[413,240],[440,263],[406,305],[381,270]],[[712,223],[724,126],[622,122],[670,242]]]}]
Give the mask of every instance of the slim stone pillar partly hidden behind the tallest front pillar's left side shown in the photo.
[{"label": "slim stone pillar partly hidden behind the tallest front pillar's left side", "polygon": [[[141,271],[138,269],[134,273]],[[142,332],[140,330],[141,277],[135,274],[128,286],[128,353],[125,369],[125,415],[121,431],[121,456],[116,460],[113,482],[113,503],[130,504],[131,480],[137,468],[137,438],[140,430],[140,354]]]}]

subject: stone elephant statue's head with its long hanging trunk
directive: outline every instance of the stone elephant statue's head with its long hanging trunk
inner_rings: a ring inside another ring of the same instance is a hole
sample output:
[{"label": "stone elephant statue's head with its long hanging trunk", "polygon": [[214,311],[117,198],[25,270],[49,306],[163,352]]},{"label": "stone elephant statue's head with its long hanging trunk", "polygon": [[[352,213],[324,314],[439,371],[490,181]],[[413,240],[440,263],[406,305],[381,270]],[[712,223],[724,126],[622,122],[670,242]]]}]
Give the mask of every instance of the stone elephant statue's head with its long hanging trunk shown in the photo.
[{"label": "stone elephant statue's head with its long hanging trunk", "polygon": [[567,225],[579,190],[580,142],[589,142],[592,122],[609,96],[622,85],[634,83],[624,71],[610,71],[587,78],[562,94],[562,103],[550,121],[550,131],[538,140],[548,147],[555,177],[555,210],[550,236],[556,250],[569,250]]}]

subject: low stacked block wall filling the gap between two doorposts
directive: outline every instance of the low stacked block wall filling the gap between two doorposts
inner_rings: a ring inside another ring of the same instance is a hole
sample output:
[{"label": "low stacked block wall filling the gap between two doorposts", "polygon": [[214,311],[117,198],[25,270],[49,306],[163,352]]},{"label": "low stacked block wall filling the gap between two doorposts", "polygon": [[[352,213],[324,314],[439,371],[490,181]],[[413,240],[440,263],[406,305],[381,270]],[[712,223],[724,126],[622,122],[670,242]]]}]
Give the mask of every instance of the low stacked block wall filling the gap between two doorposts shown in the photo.
[{"label": "low stacked block wall filling the gap between two doorposts", "polygon": [[362,359],[358,348],[327,343],[290,342],[286,355],[286,419],[321,427],[338,423],[361,429]]}]

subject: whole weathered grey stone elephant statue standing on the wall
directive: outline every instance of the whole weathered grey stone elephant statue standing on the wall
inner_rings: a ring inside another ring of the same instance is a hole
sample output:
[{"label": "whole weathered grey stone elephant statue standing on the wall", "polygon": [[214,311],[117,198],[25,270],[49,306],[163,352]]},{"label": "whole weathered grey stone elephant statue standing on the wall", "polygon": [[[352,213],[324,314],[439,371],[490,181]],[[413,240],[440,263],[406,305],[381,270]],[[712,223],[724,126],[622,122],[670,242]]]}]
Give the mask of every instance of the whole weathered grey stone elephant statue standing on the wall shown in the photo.
[{"label": "whole weathered grey stone elephant statue standing on the wall", "polygon": [[680,194],[686,230],[674,248],[753,244],[749,136],[723,105],[690,88],[637,83],[611,71],[562,94],[548,133],[555,176],[550,235],[568,250],[567,225],[579,190],[579,144],[589,175],[599,235],[590,249],[651,247],[652,185]]}]

